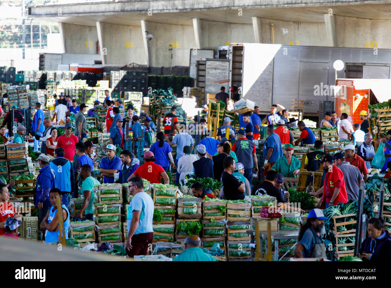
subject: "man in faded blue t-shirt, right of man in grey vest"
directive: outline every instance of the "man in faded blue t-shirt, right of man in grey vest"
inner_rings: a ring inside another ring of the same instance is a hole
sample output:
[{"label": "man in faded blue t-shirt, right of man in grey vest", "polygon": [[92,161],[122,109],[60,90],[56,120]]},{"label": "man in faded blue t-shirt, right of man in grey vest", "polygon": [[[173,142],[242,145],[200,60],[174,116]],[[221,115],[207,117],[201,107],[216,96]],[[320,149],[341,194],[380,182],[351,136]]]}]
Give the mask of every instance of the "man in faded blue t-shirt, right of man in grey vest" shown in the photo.
[{"label": "man in faded blue t-shirt, right of man in grey vest", "polygon": [[271,169],[271,167],[276,163],[277,159],[282,157],[282,146],[281,140],[278,134],[274,133],[274,126],[267,125],[267,137],[264,143],[264,173],[265,176],[267,171]]}]

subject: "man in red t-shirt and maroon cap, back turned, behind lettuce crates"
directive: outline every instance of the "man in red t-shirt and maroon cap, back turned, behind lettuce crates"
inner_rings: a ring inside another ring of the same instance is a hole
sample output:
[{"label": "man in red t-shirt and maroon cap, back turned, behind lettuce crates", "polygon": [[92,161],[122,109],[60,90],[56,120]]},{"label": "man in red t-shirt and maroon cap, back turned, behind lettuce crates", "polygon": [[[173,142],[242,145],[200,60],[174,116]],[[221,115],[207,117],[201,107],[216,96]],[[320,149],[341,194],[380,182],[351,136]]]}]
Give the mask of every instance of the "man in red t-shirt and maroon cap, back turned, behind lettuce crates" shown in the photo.
[{"label": "man in red t-shirt and maroon cap, back turned, behind lettuce crates", "polygon": [[164,171],[163,167],[160,165],[155,164],[156,161],[155,156],[151,151],[146,151],[144,153],[144,164],[139,166],[135,172],[129,178],[127,178],[127,181],[130,181],[135,176],[139,176],[143,179],[148,180],[151,183],[161,183],[160,182],[160,176],[164,179],[164,184],[170,184],[170,179],[167,173]]}]

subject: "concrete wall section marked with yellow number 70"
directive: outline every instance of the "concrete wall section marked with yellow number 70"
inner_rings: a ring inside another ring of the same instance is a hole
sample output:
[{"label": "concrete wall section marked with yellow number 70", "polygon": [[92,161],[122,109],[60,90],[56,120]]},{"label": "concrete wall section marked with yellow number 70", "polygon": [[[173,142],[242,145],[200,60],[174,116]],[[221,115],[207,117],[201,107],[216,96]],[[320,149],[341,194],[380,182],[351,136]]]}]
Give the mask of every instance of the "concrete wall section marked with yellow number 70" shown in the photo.
[{"label": "concrete wall section marked with yellow number 70", "polygon": [[66,53],[97,54],[98,34],[96,26],[75,25],[68,23],[64,23],[63,25],[63,37]]}]

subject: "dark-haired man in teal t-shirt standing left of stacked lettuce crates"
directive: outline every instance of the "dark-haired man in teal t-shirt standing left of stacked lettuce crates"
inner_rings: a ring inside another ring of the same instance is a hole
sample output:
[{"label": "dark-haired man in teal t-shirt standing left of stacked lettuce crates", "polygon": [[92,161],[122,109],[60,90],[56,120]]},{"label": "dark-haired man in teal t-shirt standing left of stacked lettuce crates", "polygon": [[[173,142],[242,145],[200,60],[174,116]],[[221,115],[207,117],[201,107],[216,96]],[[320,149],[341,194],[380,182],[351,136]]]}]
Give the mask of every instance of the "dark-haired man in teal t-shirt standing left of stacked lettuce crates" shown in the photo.
[{"label": "dark-haired man in teal t-shirt standing left of stacked lettuce crates", "polygon": [[76,217],[83,218],[83,212],[86,211],[86,220],[92,220],[92,204],[94,201],[94,186],[99,185],[99,181],[91,177],[91,166],[89,164],[84,164],[80,170],[80,178],[84,179],[83,184],[81,185],[81,192],[84,196],[83,204],[79,214]]}]

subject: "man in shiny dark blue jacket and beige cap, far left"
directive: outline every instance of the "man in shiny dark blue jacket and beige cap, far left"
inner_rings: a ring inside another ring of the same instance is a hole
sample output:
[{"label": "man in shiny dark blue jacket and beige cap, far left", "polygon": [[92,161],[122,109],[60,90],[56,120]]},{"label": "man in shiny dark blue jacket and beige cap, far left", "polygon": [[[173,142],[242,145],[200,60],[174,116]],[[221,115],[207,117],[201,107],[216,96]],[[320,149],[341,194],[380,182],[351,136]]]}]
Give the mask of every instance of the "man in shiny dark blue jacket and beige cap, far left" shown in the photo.
[{"label": "man in shiny dark blue jacket and beige cap, far left", "polygon": [[56,175],[54,170],[49,166],[50,158],[45,154],[38,157],[39,174],[36,182],[34,206],[38,209],[39,221],[45,218],[50,206],[49,192],[50,189],[56,188]]}]

